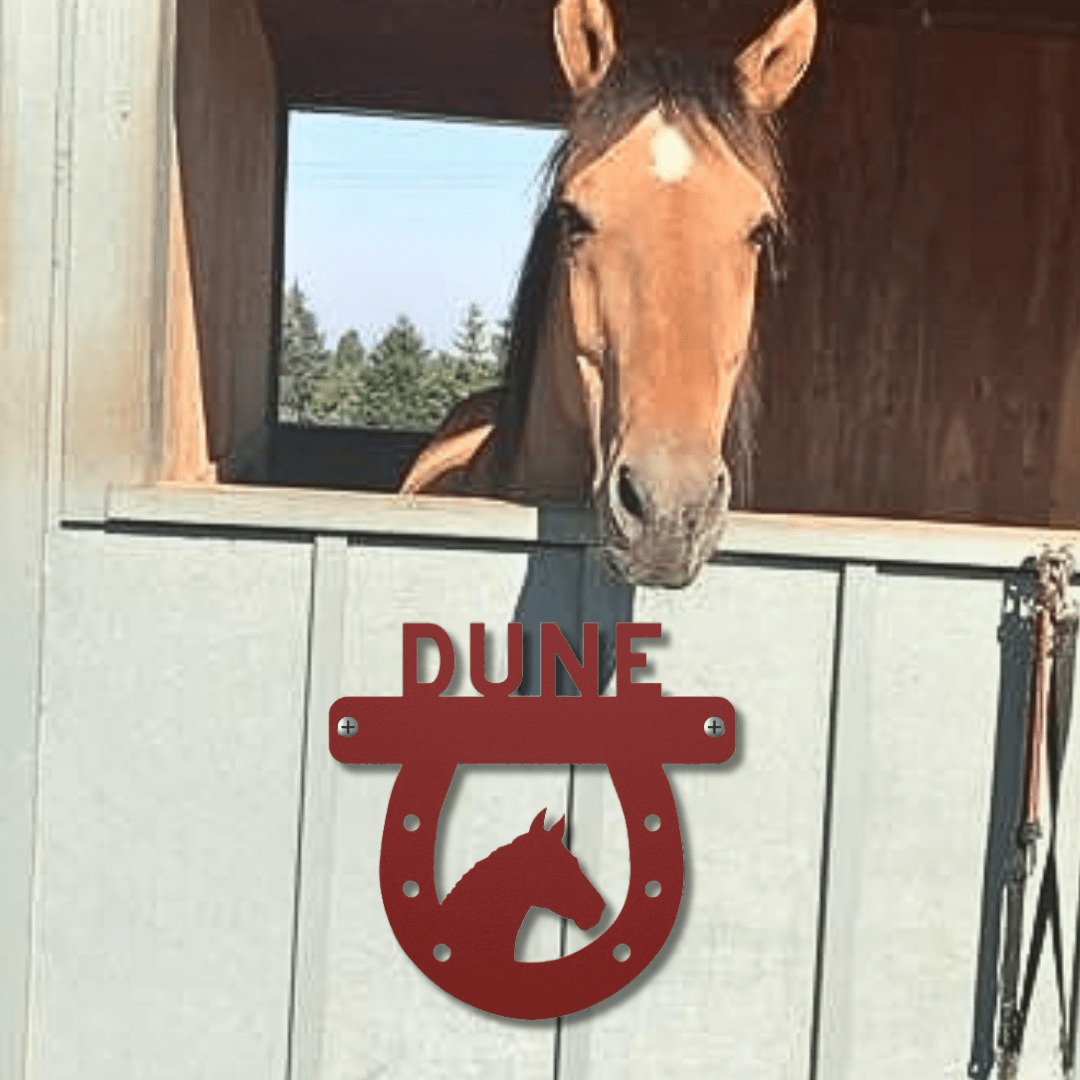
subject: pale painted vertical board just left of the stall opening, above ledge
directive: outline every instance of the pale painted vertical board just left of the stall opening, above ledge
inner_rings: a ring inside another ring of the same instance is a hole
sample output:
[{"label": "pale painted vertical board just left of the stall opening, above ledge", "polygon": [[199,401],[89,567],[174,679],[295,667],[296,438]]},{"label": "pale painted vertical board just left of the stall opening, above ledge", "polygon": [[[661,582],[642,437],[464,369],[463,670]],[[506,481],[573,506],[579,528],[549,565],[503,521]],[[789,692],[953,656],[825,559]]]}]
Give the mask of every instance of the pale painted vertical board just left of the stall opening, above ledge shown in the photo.
[{"label": "pale painted vertical board just left of the stall opening, above ledge", "polygon": [[152,480],[165,343],[173,0],[75,5],[67,199],[64,513]]}]

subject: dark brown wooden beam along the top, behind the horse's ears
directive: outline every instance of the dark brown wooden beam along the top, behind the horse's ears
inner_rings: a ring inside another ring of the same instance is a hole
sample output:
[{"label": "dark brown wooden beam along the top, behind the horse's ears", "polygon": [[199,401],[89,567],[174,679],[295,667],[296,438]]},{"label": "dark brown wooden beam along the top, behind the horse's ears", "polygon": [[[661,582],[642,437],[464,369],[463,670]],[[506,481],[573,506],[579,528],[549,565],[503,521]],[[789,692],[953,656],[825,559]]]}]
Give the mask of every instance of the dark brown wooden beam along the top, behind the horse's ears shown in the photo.
[{"label": "dark brown wooden beam along the top, behind the horse's ears", "polygon": [[[620,38],[730,52],[784,0],[612,0]],[[1080,33],[1075,0],[821,0],[826,19],[927,29]],[[551,123],[568,106],[551,2],[259,0],[286,100]]]}]

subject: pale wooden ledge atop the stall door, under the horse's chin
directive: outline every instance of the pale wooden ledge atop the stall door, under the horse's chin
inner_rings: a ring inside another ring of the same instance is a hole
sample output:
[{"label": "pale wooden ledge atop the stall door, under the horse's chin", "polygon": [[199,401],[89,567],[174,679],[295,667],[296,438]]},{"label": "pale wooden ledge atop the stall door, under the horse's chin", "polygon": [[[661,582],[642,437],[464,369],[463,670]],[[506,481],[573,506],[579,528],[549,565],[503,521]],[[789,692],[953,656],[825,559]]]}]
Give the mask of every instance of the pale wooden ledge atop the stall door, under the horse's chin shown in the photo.
[{"label": "pale wooden ledge atop the stall door, under the horse's chin", "polygon": [[[120,485],[109,491],[105,516],[114,522],[373,536],[540,540],[549,544],[597,542],[595,525],[584,511],[538,511],[485,499],[404,498],[364,491]],[[1005,569],[1038,554],[1042,544],[1070,544],[1080,553],[1080,532],[739,512],[731,515],[718,557]]]}]

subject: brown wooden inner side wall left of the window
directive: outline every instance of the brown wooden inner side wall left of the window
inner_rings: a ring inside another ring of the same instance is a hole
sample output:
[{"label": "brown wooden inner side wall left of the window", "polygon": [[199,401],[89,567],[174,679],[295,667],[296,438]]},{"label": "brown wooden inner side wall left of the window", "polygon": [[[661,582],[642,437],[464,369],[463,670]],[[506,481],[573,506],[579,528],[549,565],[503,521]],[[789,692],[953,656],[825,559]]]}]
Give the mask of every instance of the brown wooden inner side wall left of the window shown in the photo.
[{"label": "brown wooden inner side wall left of the window", "polygon": [[274,64],[254,0],[181,0],[176,39],[164,477],[257,474],[275,314]]}]

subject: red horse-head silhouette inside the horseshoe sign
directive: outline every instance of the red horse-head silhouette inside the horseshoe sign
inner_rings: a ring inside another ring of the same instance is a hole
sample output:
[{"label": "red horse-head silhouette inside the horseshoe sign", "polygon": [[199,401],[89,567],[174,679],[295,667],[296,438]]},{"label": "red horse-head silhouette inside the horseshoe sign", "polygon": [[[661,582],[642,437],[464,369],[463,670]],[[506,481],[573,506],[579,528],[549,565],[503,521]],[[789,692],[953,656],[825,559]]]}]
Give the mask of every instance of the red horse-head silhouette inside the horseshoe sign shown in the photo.
[{"label": "red horse-head silhouette inside the horseshoe sign", "polygon": [[604,897],[563,843],[566,819],[544,828],[546,809],[527,833],[468,870],[440,905],[441,942],[449,959],[489,974],[514,962],[517,934],[532,907],[545,907],[582,930],[604,915]]}]

